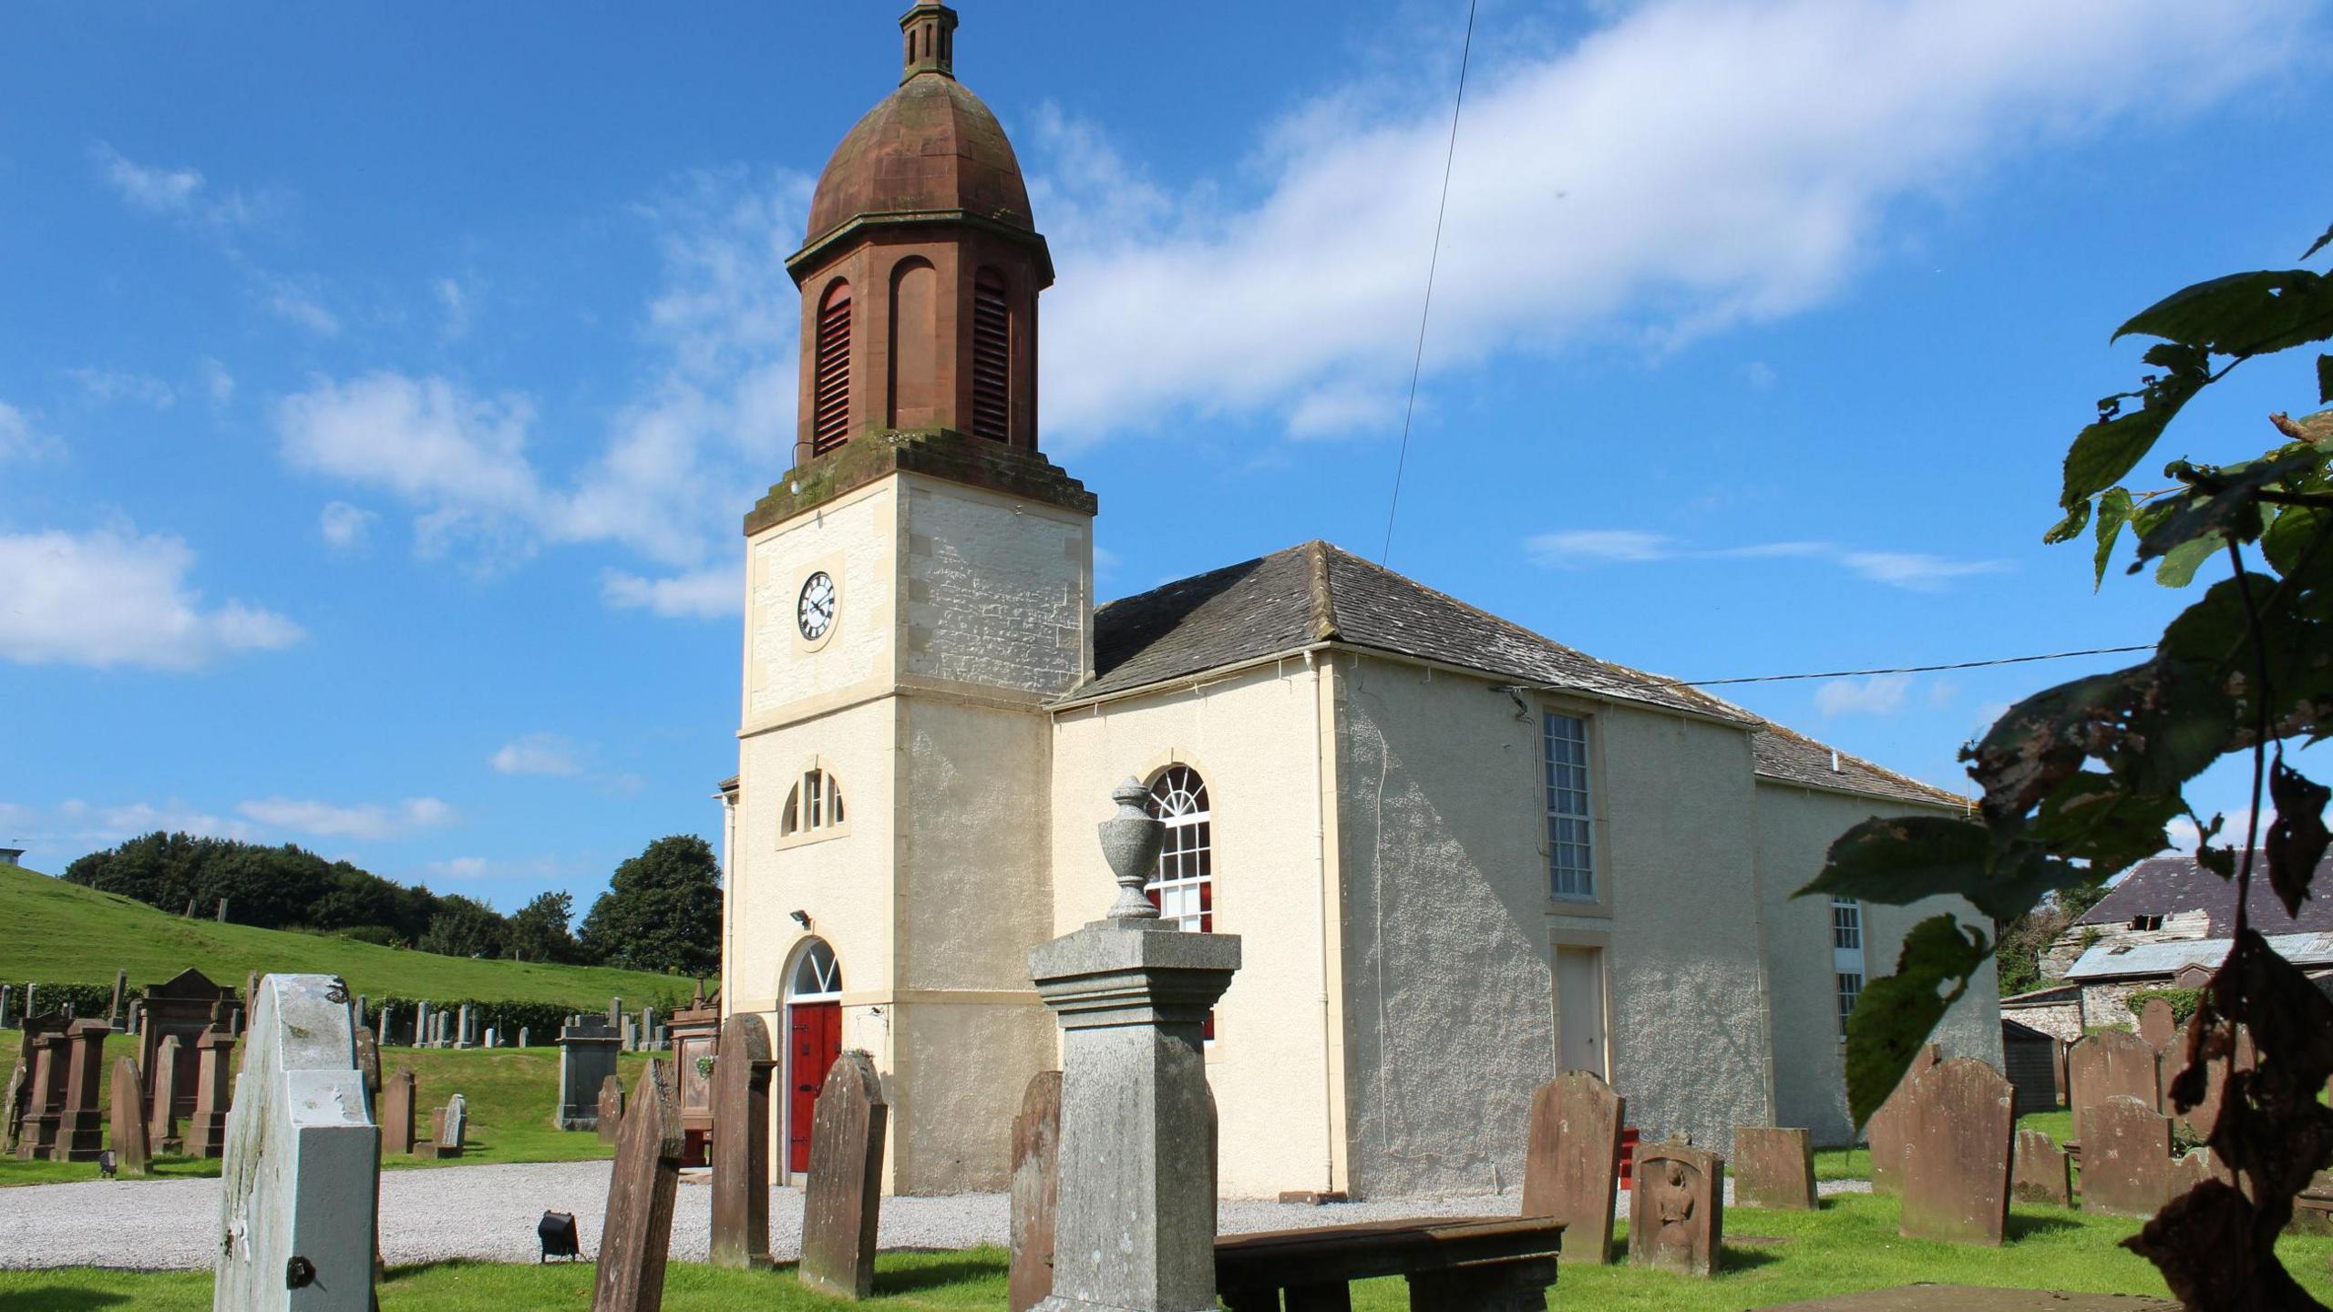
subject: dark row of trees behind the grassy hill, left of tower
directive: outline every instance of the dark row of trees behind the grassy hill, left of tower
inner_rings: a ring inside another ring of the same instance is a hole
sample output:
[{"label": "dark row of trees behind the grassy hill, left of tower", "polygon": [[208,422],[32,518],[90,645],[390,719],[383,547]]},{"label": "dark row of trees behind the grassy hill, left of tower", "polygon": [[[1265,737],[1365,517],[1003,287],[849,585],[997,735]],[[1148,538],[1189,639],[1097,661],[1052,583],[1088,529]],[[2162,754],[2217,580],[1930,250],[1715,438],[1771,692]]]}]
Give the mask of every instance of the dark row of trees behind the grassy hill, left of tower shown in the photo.
[{"label": "dark row of trees behind the grassy hill, left of tower", "polygon": [[168,913],[259,929],[341,934],[446,957],[513,957],[632,971],[721,966],[721,864],[693,833],[649,843],[616,866],[574,924],[574,894],[546,889],[511,915],[427,885],[401,885],[306,847],[154,831],[65,866],[65,882]]}]

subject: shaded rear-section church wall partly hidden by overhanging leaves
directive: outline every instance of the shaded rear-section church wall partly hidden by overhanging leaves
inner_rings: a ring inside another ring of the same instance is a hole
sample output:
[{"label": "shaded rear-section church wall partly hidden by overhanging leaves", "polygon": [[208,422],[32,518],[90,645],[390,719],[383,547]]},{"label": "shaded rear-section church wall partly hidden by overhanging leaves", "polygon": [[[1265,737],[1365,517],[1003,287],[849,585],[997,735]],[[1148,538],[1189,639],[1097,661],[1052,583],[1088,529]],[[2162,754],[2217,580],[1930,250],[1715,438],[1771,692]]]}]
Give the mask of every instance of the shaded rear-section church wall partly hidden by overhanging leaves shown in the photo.
[{"label": "shaded rear-section church wall partly hidden by overhanging leaves", "polygon": [[[1792,894],[1822,871],[1822,859],[1841,833],[1873,815],[1953,815],[1953,810],[1773,780],[1761,780],[1757,787],[1757,861],[1775,1016],[1775,1123],[1803,1125],[1822,1146],[1848,1144],[1855,1135],[1848,1121],[1845,1051],[1838,1046],[1831,899],[1792,899]],[[1894,973],[1904,934],[1946,910],[1985,929],[1990,938],[1990,924],[1962,899],[1925,899],[1911,906],[1866,901],[1864,978]],[[1969,985],[1969,995],[1936,1025],[1934,1041],[1946,1058],[1983,1058],[1995,1067],[2002,1065],[1999,990],[1990,959]]]}]

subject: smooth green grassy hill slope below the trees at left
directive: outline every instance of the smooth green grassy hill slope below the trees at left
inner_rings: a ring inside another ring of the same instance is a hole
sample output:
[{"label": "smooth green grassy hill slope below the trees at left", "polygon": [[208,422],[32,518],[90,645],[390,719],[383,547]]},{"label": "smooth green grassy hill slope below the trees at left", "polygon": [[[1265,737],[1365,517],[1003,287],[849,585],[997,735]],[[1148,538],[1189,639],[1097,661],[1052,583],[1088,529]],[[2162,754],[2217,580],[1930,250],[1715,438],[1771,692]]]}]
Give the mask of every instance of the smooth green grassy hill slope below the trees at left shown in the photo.
[{"label": "smooth green grassy hill slope below the trees at left", "polygon": [[7,980],[0,983],[112,985],[114,971],[126,969],[131,985],[152,985],[194,966],[215,983],[243,988],[247,971],[313,971],[341,976],[352,992],[371,997],[562,1002],[588,1011],[607,1009],[611,997],[639,1006],[686,995],[691,985],[642,971],[474,962],[324,934],[187,920],[16,866],[0,866],[0,924],[7,927],[0,966]]}]

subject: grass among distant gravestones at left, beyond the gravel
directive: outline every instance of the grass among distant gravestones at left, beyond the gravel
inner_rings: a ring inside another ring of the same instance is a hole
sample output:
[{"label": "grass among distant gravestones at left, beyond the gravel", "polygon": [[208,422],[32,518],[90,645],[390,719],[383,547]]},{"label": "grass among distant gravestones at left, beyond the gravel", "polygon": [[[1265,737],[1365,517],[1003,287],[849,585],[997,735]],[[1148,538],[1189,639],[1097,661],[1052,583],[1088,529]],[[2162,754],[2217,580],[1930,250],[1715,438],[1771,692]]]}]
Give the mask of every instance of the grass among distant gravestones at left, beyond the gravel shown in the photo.
[{"label": "grass among distant gravestones at left, beyond the gravel", "polygon": [[[16,1062],[16,1032],[0,1032],[0,1069]],[[117,1055],[117,1041],[107,1044],[107,1055]],[[128,1051],[126,1044],[119,1051]],[[639,1079],[649,1062],[646,1053],[618,1058],[618,1074],[625,1088]],[[429,1132],[429,1111],[446,1107],[460,1093],[469,1104],[469,1146],[453,1160],[390,1158],[387,1170],[462,1167],[483,1163],[572,1163],[588,1158],[611,1158],[614,1146],[602,1144],[588,1130],[555,1130],[551,1111],[560,1100],[560,1051],[558,1048],[383,1048],[380,1074],[408,1067],[415,1079],[415,1135]],[[100,1107],[112,1102],[112,1081],[98,1093]],[[159,1158],[159,1177],[215,1177],[219,1160]],[[14,1184],[63,1184],[98,1179],[96,1163],[19,1163],[0,1158],[0,1186]],[[7,1303],[0,1303],[7,1312]]]}]

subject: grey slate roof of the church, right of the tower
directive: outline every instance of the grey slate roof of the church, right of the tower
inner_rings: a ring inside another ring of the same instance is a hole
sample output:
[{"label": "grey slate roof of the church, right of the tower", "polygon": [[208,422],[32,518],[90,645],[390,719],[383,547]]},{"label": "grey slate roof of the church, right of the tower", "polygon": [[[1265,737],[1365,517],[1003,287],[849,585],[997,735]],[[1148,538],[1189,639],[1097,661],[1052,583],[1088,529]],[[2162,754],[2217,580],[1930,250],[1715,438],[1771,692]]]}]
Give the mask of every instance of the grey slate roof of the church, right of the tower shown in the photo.
[{"label": "grey slate roof of the church, right of the tower", "polygon": [[1673,679],[1598,661],[1383,565],[1306,542],[1094,609],[1094,677],[1062,700],[1166,684],[1243,661],[1337,642],[1754,726],[1761,777],[1925,805],[1964,798],[1838,754]]}]

